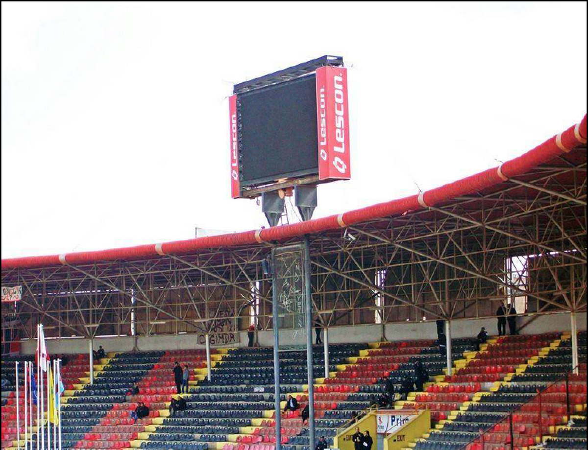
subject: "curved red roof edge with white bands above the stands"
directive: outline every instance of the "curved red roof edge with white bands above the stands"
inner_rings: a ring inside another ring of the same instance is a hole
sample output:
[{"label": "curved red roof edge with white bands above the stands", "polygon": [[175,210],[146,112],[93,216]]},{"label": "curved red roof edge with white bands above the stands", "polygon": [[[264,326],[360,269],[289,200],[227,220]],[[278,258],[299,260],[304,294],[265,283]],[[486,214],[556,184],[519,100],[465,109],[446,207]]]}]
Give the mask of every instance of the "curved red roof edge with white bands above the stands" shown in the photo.
[{"label": "curved red roof edge with white bands above the stands", "polygon": [[436,187],[419,195],[412,195],[390,202],[378,203],[343,214],[322,217],[306,222],[272,227],[262,230],[243,231],[242,233],[222,234],[220,236],[198,237],[183,241],[162,244],[147,244],[136,247],[112,248],[110,250],[80,251],[61,255],[31,256],[24,258],[8,258],[2,260],[2,269],[39,268],[59,266],[60,264],[88,264],[98,261],[136,260],[165,256],[165,254],[189,254],[203,248],[234,247],[246,244],[257,244],[274,240],[289,239],[308,233],[334,230],[366,220],[402,214],[409,210],[426,209],[455,197],[471,194],[479,190],[501,183],[510,177],[520,176],[530,169],[553,159],[563,153],[570,152],[579,145],[586,143],[586,116],[582,122],[569,127],[559,135],[547,139],[542,144],[529,150],[499,167],[476,173],[444,186]]}]

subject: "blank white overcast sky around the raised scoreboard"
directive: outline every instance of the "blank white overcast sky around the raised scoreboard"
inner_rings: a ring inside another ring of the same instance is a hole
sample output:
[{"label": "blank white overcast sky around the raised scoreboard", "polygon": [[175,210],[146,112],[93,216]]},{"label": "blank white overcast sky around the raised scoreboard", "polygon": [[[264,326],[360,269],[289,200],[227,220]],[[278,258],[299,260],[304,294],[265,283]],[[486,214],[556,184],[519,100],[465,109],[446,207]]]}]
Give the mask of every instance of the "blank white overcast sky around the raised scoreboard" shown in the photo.
[{"label": "blank white overcast sky around the raised scoreboard", "polygon": [[314,217],[495,166],[586,113],[586,2],[2,2],[2,257],[265,225],[229,192],[232,84],[349,67],[349,182]]}]

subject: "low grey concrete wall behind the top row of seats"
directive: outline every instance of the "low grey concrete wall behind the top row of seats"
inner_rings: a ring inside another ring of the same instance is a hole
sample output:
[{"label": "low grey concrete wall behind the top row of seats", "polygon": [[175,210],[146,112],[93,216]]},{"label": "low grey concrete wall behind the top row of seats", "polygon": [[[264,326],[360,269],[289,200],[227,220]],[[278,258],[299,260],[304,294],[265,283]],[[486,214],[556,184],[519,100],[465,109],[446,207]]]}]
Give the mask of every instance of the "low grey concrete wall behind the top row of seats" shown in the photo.
[{"label": "low grey concrete wall behind the top row of seats", "polygon": [[[549,331],[569,331],[570,315],[567,313],[548,314],[531,317],[519,317],[519,326],[524,326],[521,334],[538,334]],[[586,313],[576,315],[578,330],[586,330]],[[481,327],[486,327],[490,335],[497,334],[496,319],[467,319],[455,320],[451,324],[453,338],[473,337],[478,334]],[[394,323],[386,324],[385,337],[389,341],[414,340],[423,338],[436,338],[435,322],[423,323]],[[121,336],[121,337],[103,337],[93,340],[94,348],[102,345],[109,351],[132,351],[135,345],[138,350],[181,350],[189,348],[204,348],[204,345],[198,344],[197,334],[178,334],[178,335],[152,335],[152,336]],[[314,342],[313,330],[313,342]],[[329,329],[329,342],[331,344],[342,344],[349,342],[373,342],[382,338],[382,325],[356,325],[355,327],[343,326]],[[273,331],[258,332],[259,345],[273,345]],[[239,344],[234,347],[247,345],[247,332],[240,332]],[[293,330],[280,330],[280,345],[303,345],[306,343],[305,337],[293,337]],[[35,352],[36,340],[22,342],[22,352],[32,354]],[[49,354],[60,353],[85,353],[88,351],[88,340],[83,338],[58,338],[47,340],[47,350]]]}]

